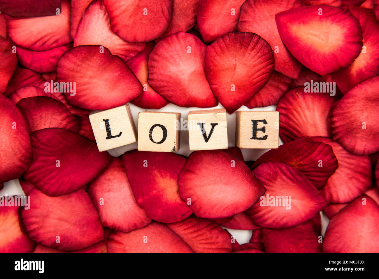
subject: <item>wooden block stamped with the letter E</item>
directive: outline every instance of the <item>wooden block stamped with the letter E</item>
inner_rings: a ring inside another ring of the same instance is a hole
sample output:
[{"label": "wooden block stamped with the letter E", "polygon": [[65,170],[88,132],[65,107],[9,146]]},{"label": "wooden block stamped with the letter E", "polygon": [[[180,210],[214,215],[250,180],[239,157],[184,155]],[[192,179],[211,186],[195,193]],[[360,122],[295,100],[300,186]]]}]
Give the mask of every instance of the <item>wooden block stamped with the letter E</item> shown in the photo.
[{"label": "wooden block stamped with the letter E", "polygon": [[278,148],[279,112],[237,111],[236,146],[239,148]]}]

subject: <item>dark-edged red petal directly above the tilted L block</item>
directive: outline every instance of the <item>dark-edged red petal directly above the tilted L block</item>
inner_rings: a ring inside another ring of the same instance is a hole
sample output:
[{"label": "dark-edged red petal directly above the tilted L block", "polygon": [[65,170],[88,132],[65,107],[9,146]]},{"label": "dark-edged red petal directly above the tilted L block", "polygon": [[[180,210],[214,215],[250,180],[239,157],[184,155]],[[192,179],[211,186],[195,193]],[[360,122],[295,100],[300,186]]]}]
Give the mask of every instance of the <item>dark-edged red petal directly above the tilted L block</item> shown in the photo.
[{"label": "dark-edged red petal directly above the tilted L block", "polygon": [[58,60],[56,82],[75,82],[75,95],[64,94],[70,104],[84,109],[121,106],[142,93],[128,66],[101,46],[77,46],[65,52]]}]

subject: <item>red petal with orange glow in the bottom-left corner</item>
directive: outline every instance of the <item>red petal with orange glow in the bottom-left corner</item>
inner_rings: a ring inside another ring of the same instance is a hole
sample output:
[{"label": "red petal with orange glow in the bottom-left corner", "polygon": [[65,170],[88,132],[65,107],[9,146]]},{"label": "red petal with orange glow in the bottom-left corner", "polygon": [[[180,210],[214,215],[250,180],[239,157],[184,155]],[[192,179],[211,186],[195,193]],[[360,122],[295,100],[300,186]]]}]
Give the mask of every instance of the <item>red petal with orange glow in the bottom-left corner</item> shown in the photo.
[{"label": "red petal with orange glow in the bottom-left corner", "polygon": [[31,253],[35,247],[20,227],[18,210],[19,206],[0,206],[0,253]]}]

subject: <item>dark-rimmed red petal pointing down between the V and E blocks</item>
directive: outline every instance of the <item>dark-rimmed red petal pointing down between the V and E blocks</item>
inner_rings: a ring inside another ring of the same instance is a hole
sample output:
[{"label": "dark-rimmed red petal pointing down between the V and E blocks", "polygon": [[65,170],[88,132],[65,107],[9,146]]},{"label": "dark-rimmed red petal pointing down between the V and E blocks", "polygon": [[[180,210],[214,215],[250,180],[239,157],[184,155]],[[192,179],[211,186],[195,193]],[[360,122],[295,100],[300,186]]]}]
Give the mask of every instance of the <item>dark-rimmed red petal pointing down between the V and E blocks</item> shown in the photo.
[{"label": "dark-rimmed red petal pointing down between the V and E blocks", "polygon": [[273,68],[273,50],[254,33],[229,32],[208,46],[205,54],[209,85],[229,113],[265,86]]}]

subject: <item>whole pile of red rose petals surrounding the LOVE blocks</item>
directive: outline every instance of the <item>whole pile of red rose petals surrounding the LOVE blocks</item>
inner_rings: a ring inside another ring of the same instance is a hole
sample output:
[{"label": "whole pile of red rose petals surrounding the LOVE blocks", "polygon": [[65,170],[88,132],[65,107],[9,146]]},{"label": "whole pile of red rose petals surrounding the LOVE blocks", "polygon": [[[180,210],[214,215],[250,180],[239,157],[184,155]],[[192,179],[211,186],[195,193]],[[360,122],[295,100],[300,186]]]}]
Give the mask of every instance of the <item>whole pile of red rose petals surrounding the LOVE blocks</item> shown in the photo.
[{"label": "whole pile of red rose petals surrounding the LOVE blocks", "polygon": [[[0,252],[379,252],[378,1],[0,0],[0,11],[0,190],[18,178],[30,197],[29,209],[0,206]],[[311,80],[334,93],[306,90]],[[99,152],[89,110],[127,102],[277,105],[284,144],[255,162],[237,147]]]}]

